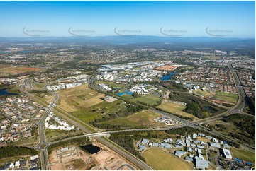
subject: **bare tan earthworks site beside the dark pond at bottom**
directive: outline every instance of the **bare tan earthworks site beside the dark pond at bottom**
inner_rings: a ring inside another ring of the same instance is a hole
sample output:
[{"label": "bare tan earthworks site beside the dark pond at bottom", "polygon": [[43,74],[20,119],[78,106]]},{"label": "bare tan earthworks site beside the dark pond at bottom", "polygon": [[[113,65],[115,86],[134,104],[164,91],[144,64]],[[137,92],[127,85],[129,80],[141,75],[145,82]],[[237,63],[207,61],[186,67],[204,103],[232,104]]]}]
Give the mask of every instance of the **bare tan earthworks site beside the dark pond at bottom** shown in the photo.
[{"label": "bare tan earthworks site beside the dark pond at bottom", "polygon": [[67,146],[65,151],[56,149],[50,154],[50,170],[138,170],[110,148],[93,141],[101,148],[90,154],[78,146]]}]

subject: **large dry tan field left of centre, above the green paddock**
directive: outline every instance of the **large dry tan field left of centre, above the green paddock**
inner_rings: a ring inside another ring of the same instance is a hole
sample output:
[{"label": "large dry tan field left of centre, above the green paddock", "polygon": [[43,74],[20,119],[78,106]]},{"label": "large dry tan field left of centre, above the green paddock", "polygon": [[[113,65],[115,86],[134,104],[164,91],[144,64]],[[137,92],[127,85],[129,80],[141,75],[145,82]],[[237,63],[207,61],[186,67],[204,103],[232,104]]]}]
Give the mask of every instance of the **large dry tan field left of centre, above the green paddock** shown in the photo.
[{"label": "large dry tan field left of centre, above the green paddock", "polygon": [[75,112],[81,108],[96,105],[103,102],[101,98],[105,96],[104,94],[97,93],[95,90],[88,88],[87,84],[58,90],[57,94],[60,95],[57,104],[67,112]]}]

